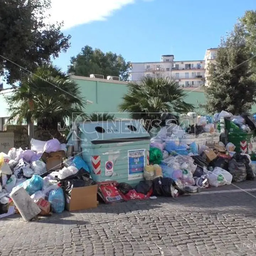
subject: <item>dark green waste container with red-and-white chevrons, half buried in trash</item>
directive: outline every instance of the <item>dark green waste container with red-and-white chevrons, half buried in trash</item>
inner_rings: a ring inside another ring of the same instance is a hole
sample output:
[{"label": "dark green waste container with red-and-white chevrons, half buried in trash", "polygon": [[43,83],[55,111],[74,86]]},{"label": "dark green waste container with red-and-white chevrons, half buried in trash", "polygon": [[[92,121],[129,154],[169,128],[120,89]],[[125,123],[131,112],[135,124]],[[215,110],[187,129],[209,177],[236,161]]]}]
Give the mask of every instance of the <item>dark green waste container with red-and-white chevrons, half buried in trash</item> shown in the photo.
[{"label": "dark green waste container with red-and-white chevrons, half buried in trash", "polygon": [[225,118],[225,132],[228,142],[233,143],[237,153],[249,154],[251,160],[256,160],[256,133],[243,132],[230,119]]}]

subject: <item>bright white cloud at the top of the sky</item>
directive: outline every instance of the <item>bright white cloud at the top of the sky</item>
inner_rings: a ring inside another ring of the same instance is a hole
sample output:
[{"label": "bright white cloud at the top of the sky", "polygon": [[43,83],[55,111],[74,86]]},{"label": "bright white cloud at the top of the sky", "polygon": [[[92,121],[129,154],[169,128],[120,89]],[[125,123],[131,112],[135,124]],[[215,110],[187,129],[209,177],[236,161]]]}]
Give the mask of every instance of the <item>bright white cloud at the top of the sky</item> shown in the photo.
[{"label": "bright white cloud at the top of the sky", "polygon": [[105,20],[113,11],[134,2],[135,0],[52,0],[49,21],[64,21],[63,29],[68,29],[91,21]]}]

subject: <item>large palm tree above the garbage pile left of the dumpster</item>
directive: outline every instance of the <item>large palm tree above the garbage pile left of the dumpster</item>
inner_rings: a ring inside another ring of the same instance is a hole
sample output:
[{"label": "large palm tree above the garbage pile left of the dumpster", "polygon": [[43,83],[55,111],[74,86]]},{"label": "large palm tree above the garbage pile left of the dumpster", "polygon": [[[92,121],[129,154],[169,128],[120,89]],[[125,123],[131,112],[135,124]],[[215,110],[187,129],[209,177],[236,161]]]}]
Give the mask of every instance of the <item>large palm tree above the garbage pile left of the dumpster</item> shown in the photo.
[{"label": "large palm tree above the garbage pile left of the dumpster", "polygon": [[9,121],[16,119],[30,127],[36,121],[44,130],[57,130],[74,114],[81,115],[85,100],[79,86],[60,68],[53,65],[39,67],[36,72],[6,97],[9,105]]}]

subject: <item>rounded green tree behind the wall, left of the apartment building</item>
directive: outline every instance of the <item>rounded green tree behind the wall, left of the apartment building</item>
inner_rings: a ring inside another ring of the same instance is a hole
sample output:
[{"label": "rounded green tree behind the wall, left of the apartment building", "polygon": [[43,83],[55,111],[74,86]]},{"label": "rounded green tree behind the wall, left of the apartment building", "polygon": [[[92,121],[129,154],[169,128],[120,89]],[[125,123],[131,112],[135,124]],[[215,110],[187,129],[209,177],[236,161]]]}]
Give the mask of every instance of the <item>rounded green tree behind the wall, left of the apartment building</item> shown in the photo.
[{"label": "rounded green tree behind the wall, left of the apartment building", "polygon": [[90,46],[82,48],[76,57],[71,57],[68,72],[78,76],[90,76],[90,74],[107,76],[119,76],[121,80],[128,80],[130,62],[126,62],[122,55],[107,52],[100,49],[92,49]]}]

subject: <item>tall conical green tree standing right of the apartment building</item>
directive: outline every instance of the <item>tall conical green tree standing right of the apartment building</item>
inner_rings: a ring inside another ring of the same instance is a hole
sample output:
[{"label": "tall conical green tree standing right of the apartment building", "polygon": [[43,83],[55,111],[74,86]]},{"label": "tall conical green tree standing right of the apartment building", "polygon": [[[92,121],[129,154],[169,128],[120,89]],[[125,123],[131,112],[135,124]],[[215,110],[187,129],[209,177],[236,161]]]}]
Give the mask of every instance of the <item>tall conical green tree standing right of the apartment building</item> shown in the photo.
[{"label": "tall conical green tree standing right of the apartment building", "polygon": [[229,111],[241,114],[256,103],[256,82],[253,78],[254,55],[248,48],[244,26],[239,21],[234,30],[221,40],[215,63],[208,68],[209,87],[205,87],[210,113]]}]

